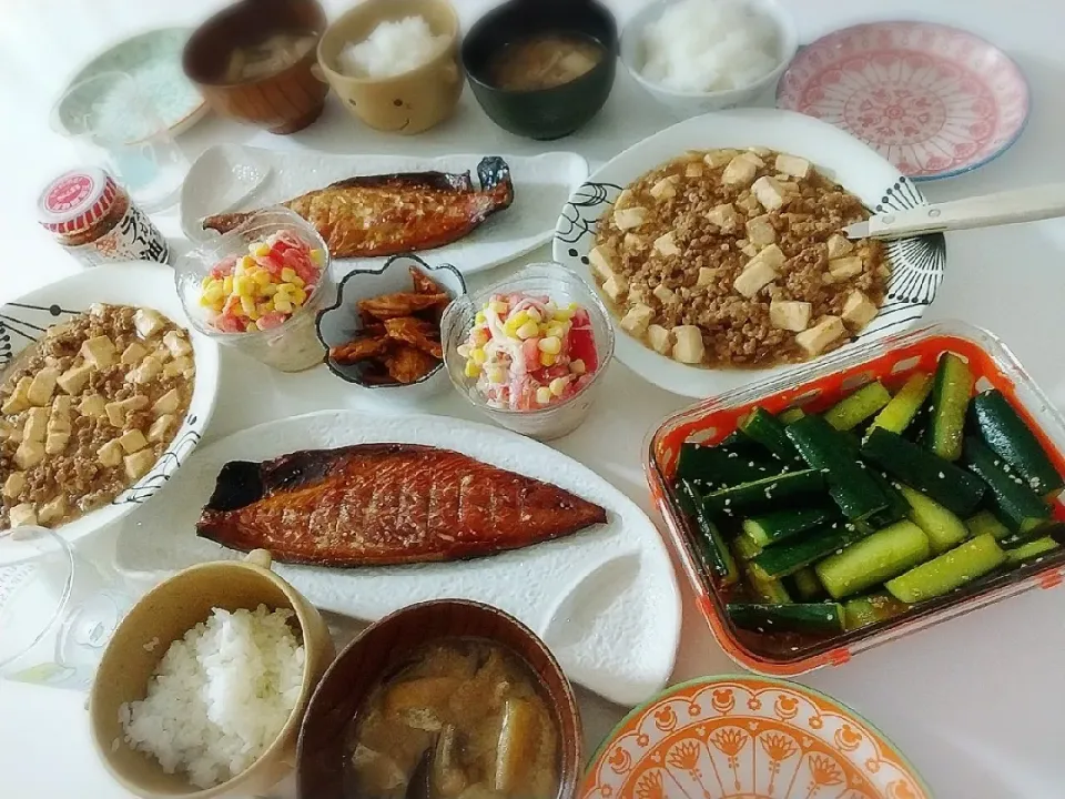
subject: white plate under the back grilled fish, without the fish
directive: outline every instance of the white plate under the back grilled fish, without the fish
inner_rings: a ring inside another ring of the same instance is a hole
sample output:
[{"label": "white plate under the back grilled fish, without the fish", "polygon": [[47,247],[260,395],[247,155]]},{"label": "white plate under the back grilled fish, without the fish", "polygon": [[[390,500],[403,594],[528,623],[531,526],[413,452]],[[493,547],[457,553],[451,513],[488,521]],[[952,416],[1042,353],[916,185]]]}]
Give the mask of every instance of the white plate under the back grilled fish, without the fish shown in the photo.
[{"label": "white plate under the back grilled fish, without the fish", "polygon": [[[181,190],[181,227],[193,241],[216,236],[204,231],[204,216],[224,211],[260,209],[321,189],[354,175],[393,172],[466,172],[477,182],[484,155],[322,155],[276,152],[260,148],[212,146],[196,160]],[[457,242],[417,253],[428,263],[454,264],[463,274],[513,261],[551,240],[557,209],[588,176],[588,162],[576,153],[552,152],[534,158],[504,155],[514,181],[514,203],[493,214]],[[234,190],[234,184],[240,190]],[[381,264],[385,259],[351,259],[344,264]]]}]

